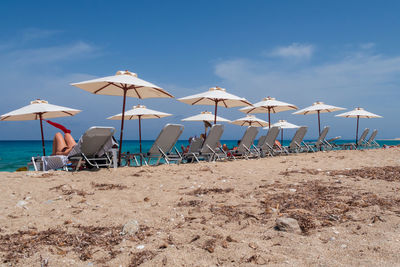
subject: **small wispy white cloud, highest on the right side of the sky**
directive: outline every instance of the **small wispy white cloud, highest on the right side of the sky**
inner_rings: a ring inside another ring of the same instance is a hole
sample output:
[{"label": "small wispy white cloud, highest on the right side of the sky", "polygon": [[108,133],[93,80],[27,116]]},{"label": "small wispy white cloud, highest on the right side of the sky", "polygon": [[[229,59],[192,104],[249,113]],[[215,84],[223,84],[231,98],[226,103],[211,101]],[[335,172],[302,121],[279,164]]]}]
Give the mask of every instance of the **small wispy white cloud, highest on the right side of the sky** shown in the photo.
[{"label": "small wispy white cloud, highest on the right side of the sky", "polygon": [[299,58],[310,58],[314,50],[315,48],[313,45],[293,43],[289,46],[279,46],[266,54],[273,57],[299,59]]}]

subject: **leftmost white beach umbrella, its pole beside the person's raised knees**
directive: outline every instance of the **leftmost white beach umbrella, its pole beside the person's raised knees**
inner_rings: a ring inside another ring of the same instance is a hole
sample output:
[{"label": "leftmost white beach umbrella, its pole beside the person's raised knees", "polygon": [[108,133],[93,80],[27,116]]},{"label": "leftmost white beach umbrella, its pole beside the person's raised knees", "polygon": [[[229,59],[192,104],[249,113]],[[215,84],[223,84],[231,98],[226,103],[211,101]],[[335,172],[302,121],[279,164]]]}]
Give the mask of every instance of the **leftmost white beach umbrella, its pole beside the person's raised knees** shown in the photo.
[{"label": "leftmost white beach umbrella, its pole beside the person's raised knees", "polygon": [[44,148],[44,136],[43,136],[43,119],[51,119],[58,117],[67,117],[74,116],[81,112],[81,110],[67,108],[62,106],[56,106],[49,104],[49,102],[45,100],[34,100],[31,101],[30,105],[22,107],[20,109],[16,109],[4,115],[1,115],[1,121],[31,121],[31,120],[40,120],[40,131],[42,134],[42,147],[43,147],[43,156],[46,155],[46,151]]}]

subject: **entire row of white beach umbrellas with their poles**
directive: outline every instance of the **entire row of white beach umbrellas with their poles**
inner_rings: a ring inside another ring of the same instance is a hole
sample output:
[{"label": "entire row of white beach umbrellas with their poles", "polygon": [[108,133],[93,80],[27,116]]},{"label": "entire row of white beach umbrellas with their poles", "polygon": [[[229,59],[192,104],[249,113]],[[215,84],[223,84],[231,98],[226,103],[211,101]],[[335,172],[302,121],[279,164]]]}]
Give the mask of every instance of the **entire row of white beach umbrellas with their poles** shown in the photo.
[{"label": "entire row of white beach umbrellas with their poles", "polygon": [[[121,120],[121,130],[120,130],[120,146],[118,152],[119,161],[121,159],[121,151],[122,151],[122,142],[123,142],[123,130],[124,130],[124,121],[130,119],[138,119],[139,120],[139,138],[141,140],[141,119],[147,118],[161,118],[165,116],[170,116],[171,114],[158,112],[150,109],[146,109],[144,106],[136,106],[131,111],[125,111],[126,106],[126,98],[127,97],[135,97],[139,99],[144,98],[173,98],[173,96],[165,91],[164,89],[154,85],[150,82],[144,81],[138,78],[137,74],[129,72],[129,71],[118,71],[113,76],[107,76],[99,79],[93,79],[89,81],[84,81],[80,83],[71,84],[78,88],[81,88],[85,91],[88,91],[93,94],[101,94],[101,95],[117,95],[123,97],[122,102],[122,113],[112,116],[109,119]],[[240,111],[253,114],[253,113],[267,113],[268,114],[268,123],[256,118],[255,116],[248,115],[245,118],[234,121],[234,124],[238,125],[255,125],[255,126],[271,126],[271,113],[277,113],[287,110],[296,110],[298,109],[295,105],[285,103],[282,101],[278,101],[275,98],[267,97],[262,101],[255,103],[252,105],[245,98],[241,98],[235,95],[232,95],[224,88],[213,87],[208,91],[200,94],[195,94],[183,98],[179,98],[179,101],[189,104],[189,105],[212,105],[214,106],[214,115],[209,113],[202,113],[202,116],[208,116],[207,120],[210,121],[210,117],[214,117],[214,124],[217,121],[223,121],[226,119],[220,118],[217,116],[218,106],[222,106],[225,108],[232,107],[243,107]],[[344,108],[335,107],[326,105],[322,102],[316,102],[312,106],[294,112],[293,114],[318,114],[318,127],[320,132],[320,113],[333,112],[344,110]],[[70,109],[62,106],[55,106],[48,104],[44,100],[35,100],[31,102],[31,105],[25,106],[21,109],[9,112],[0,117],[0,120],[40,120],[41,134],[42,134],[42,146],[43,146],[43,154],[45,155],[44,149],[44,138],[43,138],[43,125],[42,120],[48,118],[56,118],[62,116],[73,116],[79,113],[80,110]],[[377,118],[380,117],[376,114],[367,112],[361,108],[357,108],[353,111],[343,113],[337,116],[343,117],[356,117],[357,118],[357,130],[356,130],[356,141],[358,139],[358,125],[359,118]],[[194,117],[186,118],[185,120],[196,120]],[[199,118],[197,118],[199,119]],[[283,123],[283,122],[282,122]],[[281,126],[282,127],[282,126]],[[282,127],[283,128],[283,127]],[[140,142],[140,150],[141,150],[141,142]]]}]

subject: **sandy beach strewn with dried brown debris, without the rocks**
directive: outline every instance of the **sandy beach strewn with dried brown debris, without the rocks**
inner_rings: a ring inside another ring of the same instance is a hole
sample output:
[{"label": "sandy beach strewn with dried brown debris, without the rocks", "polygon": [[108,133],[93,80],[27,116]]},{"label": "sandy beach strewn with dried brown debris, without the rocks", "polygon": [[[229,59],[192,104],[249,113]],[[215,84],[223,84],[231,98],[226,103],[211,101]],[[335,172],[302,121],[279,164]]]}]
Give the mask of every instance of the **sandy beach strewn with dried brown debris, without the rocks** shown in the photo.
[{"label": "sandy beach strewn with dried brown debris, without the rocks", "polygon": [[400,265],[398,148],[1,173],[0,186],[4,266]]}]

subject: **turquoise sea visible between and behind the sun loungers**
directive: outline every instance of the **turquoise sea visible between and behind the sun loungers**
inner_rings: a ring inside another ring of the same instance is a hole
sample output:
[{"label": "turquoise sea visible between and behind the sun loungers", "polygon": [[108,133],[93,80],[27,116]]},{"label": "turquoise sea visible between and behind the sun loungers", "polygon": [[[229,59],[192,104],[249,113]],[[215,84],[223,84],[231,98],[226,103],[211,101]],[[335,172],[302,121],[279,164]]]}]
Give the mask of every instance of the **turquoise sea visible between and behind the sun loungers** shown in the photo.
[{"label": "turquoise sea visible between and behind the sun loungers", "polygon": [[[147,151],[153,144],[153,140],[142,141],[142,150]],[[288,145],[290,140],[284,140],[283,145]],[[341,140],[337,143],[349,143],[354,140]],[[237,144],[237,140],[222,140],[222,144],[233,147]],[[400,141],[379,140],[378,143],[386,145],[400,145]],[[187,141],[179,140],[176,147],[180,149],[181,145],[188,145]],[[46,153],[50,155],[52,152],[52,141],[45,141]],[[123,143],[123,152],[130,153],[139,152],[139,141],[126,140]],[[32,156],[42,155],[42,144],[40,140],[30,141],[0,141],[0,171],[13,172],[20,167],[27,166]]]}]

